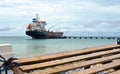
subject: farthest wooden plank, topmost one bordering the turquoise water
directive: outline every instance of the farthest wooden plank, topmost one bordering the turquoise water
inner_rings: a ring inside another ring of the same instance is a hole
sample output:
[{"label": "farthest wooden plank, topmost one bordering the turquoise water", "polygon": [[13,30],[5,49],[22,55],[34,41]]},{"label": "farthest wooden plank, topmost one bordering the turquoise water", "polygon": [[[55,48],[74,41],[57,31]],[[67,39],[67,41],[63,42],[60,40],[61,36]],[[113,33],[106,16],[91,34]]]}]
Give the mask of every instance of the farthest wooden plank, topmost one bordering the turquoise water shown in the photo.
[{"label": "farthest wooden plank, topmost one bordering the turquoise water", "polygon": [[50,54],[50,55],[44,55],[44,56],[37,56],[32,58],[23,58],[19,60],[15,60],[14,62],[18,62],[21,64],[28,64],[28,63],[34,63],[34,62],[42,62],[42,61],[49,61],[49,60],[55,60],[70,56],[76,56],[80,54],[86,54],[86,53],[92,53],[97,51],[104,51],[108,49],[115,49],[120,48],[120,45],[110,45],[110,46],[102,46],[102,47],[96,47],[96,48],[88,48],[88,49],[81,49],[81,50],[73,50],[73,51],[67,51],[62,53],[56,53],[56,54]]}]

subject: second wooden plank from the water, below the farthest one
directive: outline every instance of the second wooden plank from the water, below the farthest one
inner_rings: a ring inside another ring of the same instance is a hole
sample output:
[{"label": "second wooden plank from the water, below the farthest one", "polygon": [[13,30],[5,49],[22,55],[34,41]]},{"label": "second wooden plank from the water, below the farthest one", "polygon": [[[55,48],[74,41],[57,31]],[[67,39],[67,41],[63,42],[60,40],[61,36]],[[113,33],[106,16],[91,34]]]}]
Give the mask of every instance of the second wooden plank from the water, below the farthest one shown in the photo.
[{"label": "second wooden plank from the water, below the farthest one", "polygon": [[[76,56],[76,57],[71,57],[71,58],[65,58],[65,59],[61,59],[61,60],[48,61],[48,62],[44,62],[44,63],[37,63],[37,64],[32,64],[32,65],[25,65],[25,66],[20,66],[20,68],[23,71],[27,71],[27,70],[37,69],[37,68],[44,68],[44,67],[50,67],[50,66],[54,66],[54,65],[59,65],[59,64],[74,62],[74,61],[78,61],[78,60],[82,60],[82,59],[87,59],[87,58],[98,57],[98,56],[102,56],[102,55],[113,53],[113,52],[119,52],[119,49],[114,49],[114,50],[109,50],[109,51],[104,51],[104,52],[102,51],[102,52],[92,53],[92,54],[89,54],[89,55],[83,55],[83,56]],[[117,56],[117,58],[118,57],[120,57],[120,56]],[[112,57],[112,58],[116,58],[116,57]],[[104,61],[104,60],[102,60],[102,61]]]}]

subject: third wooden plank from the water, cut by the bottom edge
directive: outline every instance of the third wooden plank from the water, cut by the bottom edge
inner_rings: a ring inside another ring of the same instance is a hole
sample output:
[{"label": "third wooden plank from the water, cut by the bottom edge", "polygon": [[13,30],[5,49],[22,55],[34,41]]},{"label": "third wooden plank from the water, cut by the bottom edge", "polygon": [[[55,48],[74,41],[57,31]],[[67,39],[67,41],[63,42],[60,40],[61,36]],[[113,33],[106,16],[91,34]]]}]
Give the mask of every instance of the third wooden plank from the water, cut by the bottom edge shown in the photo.
[{"label": "third wooden plank from the water, cut by the bottom edge", "polygon": [[[72,64],[68,64],[68,65],[61,65],[61,66],[56,66],[54,68],[46,68],[44,70],[39,71],[40,73],[44,74],[52,74],[52,73],[60,73],[60,72],[65,72],[68,70],[73,70],[73,69],[77,69],[77,68],[81,68],[81,67],[87,67],[87,66],[91,66],[94,64],[98,64],[98,63],[103,63],[106,61],[110,61],[110,60],[114,60],[120,58],[120,54],[117,55],[113,55],[113,56],[109,56],[109,57],[103,57],[103,58],[98,58],[98,59],[94,59],[94,60],[89,60],[89,61],[84,61],[84,62],[76,62],[76,63],[72,63]],[[35,74],[37,74],[35,71],[33,71]],[[84,74],[84,73],[80,73],[80,74]]]}]

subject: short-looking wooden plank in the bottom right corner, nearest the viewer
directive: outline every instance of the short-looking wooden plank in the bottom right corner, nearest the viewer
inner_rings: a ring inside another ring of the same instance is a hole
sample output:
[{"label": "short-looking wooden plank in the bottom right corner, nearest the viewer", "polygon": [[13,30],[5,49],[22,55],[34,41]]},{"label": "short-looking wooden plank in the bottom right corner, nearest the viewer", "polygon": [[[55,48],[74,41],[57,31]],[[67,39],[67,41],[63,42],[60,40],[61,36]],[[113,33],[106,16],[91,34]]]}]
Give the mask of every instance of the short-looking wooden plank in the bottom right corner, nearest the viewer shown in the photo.
[{"label": "short-looking wooden plank in the bottom right corner, nearest the viewer", "polygon": [[94,73],[98,73],[104,70],[108,70],[108,69],[112,69],[115,67],[119,67],[120,66],[120,60],[117,62],[112,62],[112,63],[108,63],[99,67],[93,67],[90,69],[86,69],[84,71],[79,71],[79,72],[75,72],[73,74],[94,74]]}]

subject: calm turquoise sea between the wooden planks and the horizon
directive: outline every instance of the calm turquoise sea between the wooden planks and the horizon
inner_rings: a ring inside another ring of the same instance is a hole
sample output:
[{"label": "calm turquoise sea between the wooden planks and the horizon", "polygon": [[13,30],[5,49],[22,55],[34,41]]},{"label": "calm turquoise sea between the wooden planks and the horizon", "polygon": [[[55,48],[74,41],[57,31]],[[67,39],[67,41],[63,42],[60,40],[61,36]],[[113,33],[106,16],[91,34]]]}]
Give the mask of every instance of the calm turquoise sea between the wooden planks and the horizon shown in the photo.
[{"label": "calm turquoise sea between the wooden planks and the horizon", "polygon": [[69,50],[116,44],[116,39],[39,39],[0,37],[0,44],[12,44],[15,57],[31,57]]}]

